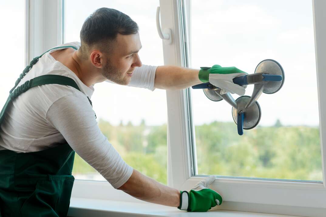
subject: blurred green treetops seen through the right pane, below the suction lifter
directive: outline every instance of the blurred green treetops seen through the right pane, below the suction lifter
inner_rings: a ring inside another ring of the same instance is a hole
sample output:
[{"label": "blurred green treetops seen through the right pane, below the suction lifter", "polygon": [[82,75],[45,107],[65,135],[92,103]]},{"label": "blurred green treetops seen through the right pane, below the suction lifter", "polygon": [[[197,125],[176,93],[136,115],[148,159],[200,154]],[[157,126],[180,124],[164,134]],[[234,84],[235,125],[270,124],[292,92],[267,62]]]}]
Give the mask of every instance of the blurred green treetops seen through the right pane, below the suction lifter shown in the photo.
[{"label": "blurred green treetops seen through the right pane, below the suction lifter", "polygon": [[319,129],[275,125],[247,130],[242,136],[230,123],[197,126],[198,174],[322,180]]}]

